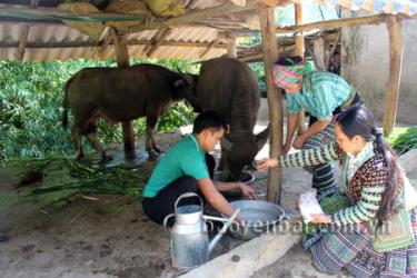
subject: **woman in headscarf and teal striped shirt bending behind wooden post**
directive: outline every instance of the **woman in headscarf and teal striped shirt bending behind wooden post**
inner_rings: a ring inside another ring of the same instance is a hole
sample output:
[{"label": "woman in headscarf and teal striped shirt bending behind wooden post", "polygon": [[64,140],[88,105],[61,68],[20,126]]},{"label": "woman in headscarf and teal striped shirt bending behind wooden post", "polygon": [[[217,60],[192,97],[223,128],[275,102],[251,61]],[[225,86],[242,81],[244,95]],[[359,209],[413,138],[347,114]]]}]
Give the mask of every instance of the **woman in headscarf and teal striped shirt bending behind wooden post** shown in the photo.
[{"label": "woman in headscarf and teal striped shirt bending behind wooden post", "polygon": [[[332,117],[360,98],[341,77],[326,71],[312,71],[301,57],[281,58],[274,66],[274,82],[287,96],[287,139],[282,146],[287,153],[296,149],[314,149],[335,140]],[[305,109],[310,115],[309,128],[292,143],[298,115]],[[312,187],[320,197],[336,191],[336,180],[329,163],[312,169]]]}]

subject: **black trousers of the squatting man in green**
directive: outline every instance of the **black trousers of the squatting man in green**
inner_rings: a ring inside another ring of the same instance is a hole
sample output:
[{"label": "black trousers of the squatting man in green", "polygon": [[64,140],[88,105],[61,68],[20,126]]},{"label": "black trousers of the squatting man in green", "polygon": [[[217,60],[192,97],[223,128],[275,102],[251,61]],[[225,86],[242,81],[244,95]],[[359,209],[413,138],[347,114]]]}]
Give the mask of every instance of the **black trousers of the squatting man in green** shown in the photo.
[{"label": "black trousers of the squatting man in green", "polygon": [[[210,178],[212,179],[216,160],[209,153],[206,153],[206,163]],[[150,220],[161,225],[166,216],[173,212],[173,205],[178,197],[186,192],[195,192],[201,197],[201,193],[198,190],[197,180],[193,177],[180,177],[171,181],[163,189],[159,190],[155,197],[145,197],[142,200],[145,215],[147,215]],[[187,201],[189,200],[181,201],[181,203],[187,203]]]}]

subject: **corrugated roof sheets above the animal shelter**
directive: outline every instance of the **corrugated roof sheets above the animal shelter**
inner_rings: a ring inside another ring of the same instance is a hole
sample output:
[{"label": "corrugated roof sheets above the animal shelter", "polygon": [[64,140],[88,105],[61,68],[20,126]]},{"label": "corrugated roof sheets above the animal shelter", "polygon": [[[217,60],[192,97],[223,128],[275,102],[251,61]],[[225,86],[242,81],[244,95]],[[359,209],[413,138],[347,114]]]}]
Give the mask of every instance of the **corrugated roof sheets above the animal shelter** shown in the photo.
[{"label": "corrugated roof sheets above the animal shelter", "polygon": [[[202,10],[217,7],[227,0],[185,0],[188,10]],[[294,0],[300,2],[300,0]],[[417,12],[417,0],[315,0],[319,4],[339,4],[350,10],[367,10],[371,12]],[[3,3],[3,4],[1,4]],[[10,3],[26,3],[30,0],[0,0],[0,10],[4,7],[19,7]],[[58,0],[39,0],[39,4],[48,7],[59,3]],[[20,6],[21,7],[21,6]],[[224,18],[232,21],[230,18]],[[21,31],[28,23],[2,21],[0,17],[0,59],[17,59],[18,44]],[[51,20],[51,19],[46,19]],[[53,20],[53,19],[52,19]],[[242,19],[239,18],[241,21]],[[62,24],[54,19],[54,23],[29,23],[30,31],[24,49],[23,61],[52,61],[77,58],[109,58],[115,56],[112,44],[99,47],[88,36]],[[226,53],[226,40],[219,39],[220,29],[209,27],[175,27],[163,37],[158,48],[152,49],[151,58],[185,58],[209,59]],[[158,30],[146,30],[127,34],[129,54],[131,57],[146,58],[150,47],[155,42]],[[217,43],[216,46],[212,46]],[[211,46],[211,47],[210,47]],[[48,47],[48,48],[47,48]],[[145,51],[147,50],[147,51]],[[202,56],[203,54],[203,56]]]}]

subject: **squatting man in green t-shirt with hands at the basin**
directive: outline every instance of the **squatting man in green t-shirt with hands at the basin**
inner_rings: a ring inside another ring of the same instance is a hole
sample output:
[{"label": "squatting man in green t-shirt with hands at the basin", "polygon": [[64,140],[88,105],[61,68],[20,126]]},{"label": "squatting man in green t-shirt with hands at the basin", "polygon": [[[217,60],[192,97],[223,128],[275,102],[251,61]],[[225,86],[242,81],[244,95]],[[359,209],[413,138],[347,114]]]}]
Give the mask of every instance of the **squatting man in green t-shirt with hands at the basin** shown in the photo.
[{"label": "squatting man in green t-shirt with hands at the basin", "polygon": [[[185,192],[198,193],[227,216],[235,209],[219,191],[240,189],[249,198],[256,197],[254,189],[242,182],[212,180],[216,162],[208,152],[215,149],[226,129],[220,115],[202,112],[195,120],[192,133],[177,142],[159,161],[143,190],[143,211],[152,221],[162,224],[165,217],[173,212],[177,198]],[[236,220],[241,221],[239,216]]]}]

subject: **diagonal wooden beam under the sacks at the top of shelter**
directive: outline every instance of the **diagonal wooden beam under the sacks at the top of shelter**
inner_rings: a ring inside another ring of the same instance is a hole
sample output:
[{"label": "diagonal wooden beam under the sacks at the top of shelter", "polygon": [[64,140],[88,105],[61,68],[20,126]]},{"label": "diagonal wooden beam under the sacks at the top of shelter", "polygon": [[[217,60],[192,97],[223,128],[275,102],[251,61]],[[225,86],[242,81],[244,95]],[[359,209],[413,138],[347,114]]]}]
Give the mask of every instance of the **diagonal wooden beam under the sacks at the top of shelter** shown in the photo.
[{"label": "diagonal wooden beam under the sacks at the top of shelter", "polygon": [[128,29],[120,30],[120,33],[132,33],[132,32],[140,32],[143,30],[149,29],[161,29],[161,28],[169,28],[175,26],[183,26],[190,23],[192,21],[199,19],[207,19],[207,18],[216,18],[228,13],[234,12],[242,12],[257,9],[257,4],[255,0],[250,0],[246,3],[245,7],[236,6],[230,2],[227,2],[221,6],[217,6],[214,8],[208,8],[198,11],[190,11],[183,16],[173,17],[167,20],[146,20],[143,24],[138,27],[132,27]]}]

